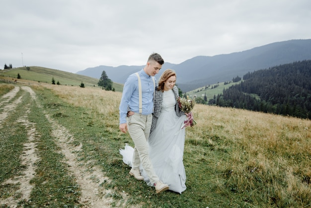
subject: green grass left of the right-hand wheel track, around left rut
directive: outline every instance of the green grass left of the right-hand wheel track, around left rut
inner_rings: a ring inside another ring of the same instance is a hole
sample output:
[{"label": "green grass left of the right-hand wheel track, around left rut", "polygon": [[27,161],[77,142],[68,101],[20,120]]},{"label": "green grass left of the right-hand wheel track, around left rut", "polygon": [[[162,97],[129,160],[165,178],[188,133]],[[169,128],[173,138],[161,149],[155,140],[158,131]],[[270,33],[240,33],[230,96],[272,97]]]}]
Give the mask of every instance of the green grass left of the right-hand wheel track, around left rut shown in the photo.
[{"label": "green grass left of the right-hand wheel track, around left rut", "polygon": [[[24,202],[17,192],[17,185],[5,184],[0,186],[0,199],[13,196],[20,200],[21,207],[74,207],[78,205],[79,189],[75,179],[68,174],[67,167],[62,161],[63,155],[58,151],[54,138],[51,136],[51,127],[47,122],[41,108],[35,102],[31,102],[28,93],[19,91],[16,98],[22,97],[22,102],[16,111],[10,113],[8,118],[2,123],[0,131],[0,183],[6,179],[14,178],[22,174],[25,166],[20,161],[23,151],[23,144],[28,140],[25,125],[16,122],[18,118],[25,115],[25,107],[29,107],[28,119],[35,122],[35,140],[40,160],[35,165],[36,176],[30,181],[34,186],[31,192],[31,200]],[[14,99],[10,103],[14,102]],[[23,106],[23,107],[22,107]]]}]

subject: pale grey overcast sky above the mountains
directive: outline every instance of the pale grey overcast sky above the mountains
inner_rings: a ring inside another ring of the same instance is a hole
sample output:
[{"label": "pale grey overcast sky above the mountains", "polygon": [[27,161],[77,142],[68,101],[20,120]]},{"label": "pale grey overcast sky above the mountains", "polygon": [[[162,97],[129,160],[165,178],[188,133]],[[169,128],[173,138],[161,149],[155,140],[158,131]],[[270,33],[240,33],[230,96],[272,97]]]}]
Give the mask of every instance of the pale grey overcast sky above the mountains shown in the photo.
[{"label": "pale grey overcast sky above the mountains", "polygon": [[0,0],[0,69],[179,64],[311,38],[311,0]]}]

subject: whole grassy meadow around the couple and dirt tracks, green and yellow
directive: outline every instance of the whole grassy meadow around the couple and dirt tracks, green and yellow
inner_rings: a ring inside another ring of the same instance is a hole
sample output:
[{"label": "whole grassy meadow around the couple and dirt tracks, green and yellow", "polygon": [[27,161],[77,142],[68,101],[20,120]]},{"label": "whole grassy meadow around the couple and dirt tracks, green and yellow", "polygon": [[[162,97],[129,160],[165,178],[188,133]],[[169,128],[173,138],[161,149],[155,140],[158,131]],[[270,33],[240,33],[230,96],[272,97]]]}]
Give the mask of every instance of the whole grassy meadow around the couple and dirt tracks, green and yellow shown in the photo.
[{"label": "whole grassy meadow around the couple and dirt tracks, green and yellow", "polygon": [[[0,96],[12,86],[0,85]],[[21,207],[80,206],[79,188],[67,174],[42,111],[74,135],[74,145],[82,144],[80,162],[100,168],[110,178],[103,184],[114,190],[108,197],[124,200],[121,193],[128,195],[126,207],[311,207],[310,120],[196,104],[193,114],[197,125],[186,128],[187,189],[181,195],[170,191],[157,195],[154,188],[128,174],[130,169],[119,154],[126,143],[133,146],[129,134],[119,131],[120,92],[37,82],[27,86],[34,90],[43,109],[29,102],[27,94],[22,105],[31,106],[31,122],[44,139],[39,139],[41,160],[32,180],[31,202],[20,202]],[[0,127],[0,183],[23,169],[18,158],[25,133],[15,122],[21,113],[16,110]],[[15,189],[1,186],[0,199]]]}]

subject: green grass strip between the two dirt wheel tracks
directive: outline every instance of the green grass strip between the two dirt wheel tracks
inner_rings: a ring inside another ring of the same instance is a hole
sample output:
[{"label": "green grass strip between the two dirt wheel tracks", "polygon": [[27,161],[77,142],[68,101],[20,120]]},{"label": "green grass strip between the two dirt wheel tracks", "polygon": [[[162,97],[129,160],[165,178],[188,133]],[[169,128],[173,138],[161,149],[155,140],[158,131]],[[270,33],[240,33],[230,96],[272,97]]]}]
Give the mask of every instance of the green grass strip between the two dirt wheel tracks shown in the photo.
[{"label": "green grass strip between the two dirt wheel tracks", "polygon": [[59,147],[55,144],[51,135],[51,125],[44,114],[34,104],[30,109],[33,113],[29,119],[36,121],[39,135],[38,150],[40,161],[36,163],[37,175],[32,180],[35,185],[31,192],[31,203],[38,207],[73,207],[77,205],[79,188],[75,178],[69,174],[64,156],[59,153]]}]

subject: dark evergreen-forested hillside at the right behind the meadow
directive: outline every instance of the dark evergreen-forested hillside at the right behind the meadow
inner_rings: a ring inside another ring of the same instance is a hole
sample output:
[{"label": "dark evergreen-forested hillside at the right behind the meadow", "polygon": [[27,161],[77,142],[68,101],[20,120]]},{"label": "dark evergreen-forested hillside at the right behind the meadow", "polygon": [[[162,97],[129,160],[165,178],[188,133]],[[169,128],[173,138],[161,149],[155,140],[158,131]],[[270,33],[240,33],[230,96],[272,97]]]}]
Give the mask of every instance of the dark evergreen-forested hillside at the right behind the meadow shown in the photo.
[{"label": "dark evergreen-forested hillside at the right behind the meadow", "polygon": [[216,105],[311,119],[311,60],[247,73]]}]

